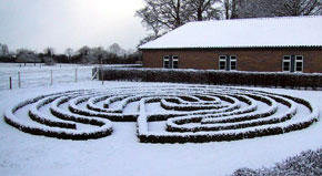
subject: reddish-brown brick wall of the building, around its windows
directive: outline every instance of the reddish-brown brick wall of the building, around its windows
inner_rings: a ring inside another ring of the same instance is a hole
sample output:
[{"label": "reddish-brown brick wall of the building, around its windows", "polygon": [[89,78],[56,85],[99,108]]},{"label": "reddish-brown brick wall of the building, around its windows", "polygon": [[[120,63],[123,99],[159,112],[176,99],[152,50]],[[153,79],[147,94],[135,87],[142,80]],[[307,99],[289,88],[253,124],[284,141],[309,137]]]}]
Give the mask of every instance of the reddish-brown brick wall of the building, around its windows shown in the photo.
[{"label": "reddish-brown brick wall of the building, around its windows", "polygon": [[322,73],[322,49],[144,50],[143,68],[162,68],[163,55],[179,55],[179,69],[219,69],[219,55],[237,55],[238,71],[281,72],[283,55],[303,55],[305,73]]}]

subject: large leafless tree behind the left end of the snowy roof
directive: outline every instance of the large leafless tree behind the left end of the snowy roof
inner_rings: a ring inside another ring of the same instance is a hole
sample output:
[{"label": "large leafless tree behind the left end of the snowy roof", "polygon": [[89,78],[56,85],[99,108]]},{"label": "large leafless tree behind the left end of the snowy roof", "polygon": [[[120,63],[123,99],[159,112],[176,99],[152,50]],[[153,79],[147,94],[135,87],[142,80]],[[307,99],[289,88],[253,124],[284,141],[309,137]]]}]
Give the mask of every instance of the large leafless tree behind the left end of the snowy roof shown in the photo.
[{"label": "large leafless tree behind the left end of the snowy roof", "polygon": [[135,12],[142,24],[153,33],[140,41],[144,44],[190,21],[219,19],[214,7],[220,0],[144,0],[145,7]]}]

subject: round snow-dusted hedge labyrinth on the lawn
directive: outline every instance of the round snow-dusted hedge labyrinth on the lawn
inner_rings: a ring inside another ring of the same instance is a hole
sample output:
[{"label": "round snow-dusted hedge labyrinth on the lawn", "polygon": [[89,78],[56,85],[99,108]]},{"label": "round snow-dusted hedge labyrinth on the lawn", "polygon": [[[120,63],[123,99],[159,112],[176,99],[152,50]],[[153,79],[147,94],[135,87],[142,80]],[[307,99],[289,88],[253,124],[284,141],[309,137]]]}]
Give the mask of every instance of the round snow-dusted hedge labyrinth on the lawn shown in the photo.
[{"label": "round snow-dusted hedge labyrinth on the lawn", "polygon": [[254,138],[309,127],[319,107],[262,91],[201,85],[123,86],[48,94],[4,113],[18,130],[49,137],[113,135],[112,122],[135,122],[142,143]]}]

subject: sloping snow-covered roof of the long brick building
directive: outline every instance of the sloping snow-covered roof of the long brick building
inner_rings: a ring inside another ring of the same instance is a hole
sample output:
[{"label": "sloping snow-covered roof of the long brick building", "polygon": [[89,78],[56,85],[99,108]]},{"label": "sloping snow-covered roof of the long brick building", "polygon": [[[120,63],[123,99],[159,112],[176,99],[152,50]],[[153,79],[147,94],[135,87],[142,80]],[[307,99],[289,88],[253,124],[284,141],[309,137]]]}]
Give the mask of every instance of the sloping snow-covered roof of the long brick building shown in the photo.
[{"label": "sloping snow-covered roof of the long brick building", "polygon": [[322,46],[322,15],[187,23],[147,49]]}]

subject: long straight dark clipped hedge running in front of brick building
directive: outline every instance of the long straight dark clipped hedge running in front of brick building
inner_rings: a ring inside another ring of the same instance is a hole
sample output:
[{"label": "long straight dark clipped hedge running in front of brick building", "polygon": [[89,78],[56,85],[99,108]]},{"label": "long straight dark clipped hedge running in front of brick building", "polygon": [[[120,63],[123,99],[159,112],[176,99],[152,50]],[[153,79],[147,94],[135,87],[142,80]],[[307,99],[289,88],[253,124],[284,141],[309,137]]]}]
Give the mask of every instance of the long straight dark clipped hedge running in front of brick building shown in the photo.
[{"label": "long straight dark clipped hedge running in front of brick building", "polygon": [[142,82],[197,83],[214,85],[253,85],[275,87],[322,87],[320,73],[282,72],[225,72],[213,70],[165,70],[165,69],[99,69],[99,80],[127,80]]}]

